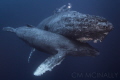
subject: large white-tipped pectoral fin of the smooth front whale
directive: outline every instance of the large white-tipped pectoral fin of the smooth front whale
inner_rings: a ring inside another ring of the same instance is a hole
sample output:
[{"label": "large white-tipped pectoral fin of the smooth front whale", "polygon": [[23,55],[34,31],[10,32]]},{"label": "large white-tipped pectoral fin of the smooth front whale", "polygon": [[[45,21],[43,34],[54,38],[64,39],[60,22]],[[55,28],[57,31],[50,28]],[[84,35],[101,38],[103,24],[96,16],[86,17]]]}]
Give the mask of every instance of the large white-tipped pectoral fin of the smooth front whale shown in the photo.
[{"label": "large white-tipped pectoral fin of the smooth front whale", "polygon": [[57,54],[47,58],[44,62],[42,62],[34,72],[34,75],[41,76],[46,71],[52,71],[55,66],[59,65],[63,61],[65,56],[65,51],[58,51]]}]

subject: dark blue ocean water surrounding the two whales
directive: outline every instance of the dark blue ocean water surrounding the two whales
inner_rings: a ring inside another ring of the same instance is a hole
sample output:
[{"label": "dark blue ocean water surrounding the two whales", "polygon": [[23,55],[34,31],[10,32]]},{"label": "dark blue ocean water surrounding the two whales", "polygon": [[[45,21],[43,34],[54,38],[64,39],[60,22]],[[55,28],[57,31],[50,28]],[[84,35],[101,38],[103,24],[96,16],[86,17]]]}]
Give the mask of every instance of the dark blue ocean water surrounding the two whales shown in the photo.
[{"label": "dark blue ocean water surrounding the two whales", "polygon": [[[97,57],[68,56],[51,72],[33,75],[49,54],[36,51],[27,62],[31,47],[3,27],[37,26],[54,10],[72,4],[72,10],[105,17],[114,30],[102,43],[90,43],[100,51]],[[0,0],[0,80],[120,80],[119,0]]]}]

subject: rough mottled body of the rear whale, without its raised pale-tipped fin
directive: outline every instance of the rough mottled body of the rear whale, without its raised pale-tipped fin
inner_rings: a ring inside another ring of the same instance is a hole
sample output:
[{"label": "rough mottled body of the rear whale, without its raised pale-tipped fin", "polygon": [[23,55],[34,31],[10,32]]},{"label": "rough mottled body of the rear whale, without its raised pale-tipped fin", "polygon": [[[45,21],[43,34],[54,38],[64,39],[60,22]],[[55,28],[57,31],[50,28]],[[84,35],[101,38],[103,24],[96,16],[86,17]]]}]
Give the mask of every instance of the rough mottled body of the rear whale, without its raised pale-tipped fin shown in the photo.
[{"label": "rough mottled body of the rear whale, without its raised pale-tipped fin", "polygon": [[86,37],[102,40],[113,29],[112,23],[103,17],[63,10],[44,19],[37,26],[40,29],[61,34],[70,39]]}]

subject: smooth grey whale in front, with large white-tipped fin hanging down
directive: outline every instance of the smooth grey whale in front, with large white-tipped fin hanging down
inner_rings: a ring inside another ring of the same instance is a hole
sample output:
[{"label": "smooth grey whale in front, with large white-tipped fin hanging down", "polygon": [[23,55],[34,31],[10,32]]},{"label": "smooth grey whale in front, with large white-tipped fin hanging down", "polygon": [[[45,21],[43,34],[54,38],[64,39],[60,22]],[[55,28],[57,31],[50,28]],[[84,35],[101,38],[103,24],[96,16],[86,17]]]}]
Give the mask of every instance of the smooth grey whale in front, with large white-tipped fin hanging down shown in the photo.
[{"label": "smooth grey whale in front, with large white-tipped fin hanging down", "polygon": [[47,58],[34,72],[35,76],[41,76],[46,71],[51,71],[59,65],[66,55],[73,56],[97,56],[99,52],[87,43],[72,41],[62,35],[44,31],[35,27],[4,27],[4,31],[16,33],[16,35],[33,48],[53,54]]}]

